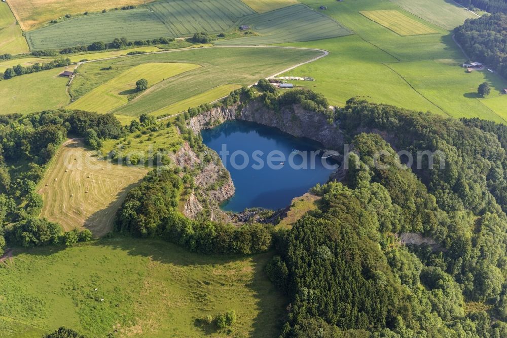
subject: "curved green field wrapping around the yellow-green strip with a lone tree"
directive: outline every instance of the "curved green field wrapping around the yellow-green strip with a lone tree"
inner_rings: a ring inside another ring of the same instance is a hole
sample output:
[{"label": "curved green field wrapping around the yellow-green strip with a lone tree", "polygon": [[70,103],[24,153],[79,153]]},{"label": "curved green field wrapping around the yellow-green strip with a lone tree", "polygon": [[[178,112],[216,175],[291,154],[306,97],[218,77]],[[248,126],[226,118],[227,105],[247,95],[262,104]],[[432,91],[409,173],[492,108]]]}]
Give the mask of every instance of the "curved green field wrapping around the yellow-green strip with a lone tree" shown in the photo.
[{"label": "curved green field wrapping around the yellow-green strip with a lone tree", "polygon": [[[268,47],[212,47],[175,50],[167,53],[142,54],[82,64],[73,81],[70,92],[85,95],[88,91],[111,80],[130,67],[147,62],[185,62],[201,67],[190,73],[176,75],[164,81],[149,93],[139,96],[128,104],[113,110],[122,121],[130,121],[143,113],[154,113],[163,108],[201,95],[224,84],[250,85],[260,78],[310,60],[321,52],[315,50]],[[112,66],[112,71],[100,71]],[[92,85],[93,84],[93,85]],[[224,95],[211,97],[218,99]],[[187,109],[188,107],[185,107]],[[161,113],[157,113],[160,115]]]}]

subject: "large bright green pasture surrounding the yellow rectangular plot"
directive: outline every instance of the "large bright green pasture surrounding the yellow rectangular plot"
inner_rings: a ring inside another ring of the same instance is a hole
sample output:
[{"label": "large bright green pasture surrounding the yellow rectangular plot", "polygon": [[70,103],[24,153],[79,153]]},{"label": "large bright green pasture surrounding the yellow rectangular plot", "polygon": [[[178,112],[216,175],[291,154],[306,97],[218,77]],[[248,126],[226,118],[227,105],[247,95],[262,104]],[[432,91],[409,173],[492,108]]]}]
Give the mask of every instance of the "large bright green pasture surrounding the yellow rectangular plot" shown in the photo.
[{"label": "large bright green pasture surrounding the yellow rectangular plot", "polygon": [[[314,8],[318,8],[321,4],[317,0],[302,2]],[[331,52],[328,57],[284,74],[310,76],[316,79],[316,82],[298,82],[298,85],[324,93],[337,105],[344,105],[352,96],[364,95],[374,102],[420,111],[429,110],[447,116],[479,116],[499,122],[506,118],[507,96],[497,98],[498,102],[491,105],[495,109],[495,112],[492,112],[470,93],[484,79],[490,82],[495,93],[507,87],[507,82],[490,72],[466,77],[458,66],[465,60],[464,56],[452,41],[449,31],[424,22],[386,0],[329,2],[325,5],[328,6],[326,11],[328,15],[352,29],[356,35],[318,42],[287,44],[318,47]],[[359,13],[359,11],[389,9],[398,10],[439,33],[400,37]],[[455,10],[461,13],[459,8]],[[437,61],[420,62],[431,60]],[[396,64],[397,62],[403,63]],[[433,63],[441,67],[437,75],[431,74],[433,67],[426,69]],[[398,67],[411,68],[411,76],[404,78],[404,74],[396,73]],[[452,74],[452,78],[448,78],[449,74]],[[499,104],[500,101],[504,104]]]}]

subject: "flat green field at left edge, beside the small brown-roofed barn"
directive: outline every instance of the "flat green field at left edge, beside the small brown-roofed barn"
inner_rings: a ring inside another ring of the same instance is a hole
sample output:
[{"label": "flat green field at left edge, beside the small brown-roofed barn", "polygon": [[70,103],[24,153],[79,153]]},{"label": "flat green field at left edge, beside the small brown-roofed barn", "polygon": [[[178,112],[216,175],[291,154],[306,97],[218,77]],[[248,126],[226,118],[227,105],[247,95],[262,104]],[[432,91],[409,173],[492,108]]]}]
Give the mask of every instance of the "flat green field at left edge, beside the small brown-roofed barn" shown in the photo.
[{"label": "flat green field at left edge, beside the small brown-roofed barn", "polygon": [[0,81],[0,114],[26,114],[65,107],[70,98],[65,90],[68,79],[58,77],[63,71],[57,68]]}]

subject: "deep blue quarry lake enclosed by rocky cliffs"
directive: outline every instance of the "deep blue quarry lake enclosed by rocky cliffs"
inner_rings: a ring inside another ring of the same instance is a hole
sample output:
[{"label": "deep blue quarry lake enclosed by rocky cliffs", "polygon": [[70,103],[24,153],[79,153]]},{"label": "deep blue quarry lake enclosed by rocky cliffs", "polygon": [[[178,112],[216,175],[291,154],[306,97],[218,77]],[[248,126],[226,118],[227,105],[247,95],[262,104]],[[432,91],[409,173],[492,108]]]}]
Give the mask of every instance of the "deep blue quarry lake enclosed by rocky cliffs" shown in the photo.
[{"label": "deep blue quarry lake enclosed by rocky cliffs", "polygon": [[257,123],[227,121],[202,130],[202,138],[219,153],[236,187],[222,205],[226,211],[284,208],[336,171],[336,162],[322,159],[320,144]]}]

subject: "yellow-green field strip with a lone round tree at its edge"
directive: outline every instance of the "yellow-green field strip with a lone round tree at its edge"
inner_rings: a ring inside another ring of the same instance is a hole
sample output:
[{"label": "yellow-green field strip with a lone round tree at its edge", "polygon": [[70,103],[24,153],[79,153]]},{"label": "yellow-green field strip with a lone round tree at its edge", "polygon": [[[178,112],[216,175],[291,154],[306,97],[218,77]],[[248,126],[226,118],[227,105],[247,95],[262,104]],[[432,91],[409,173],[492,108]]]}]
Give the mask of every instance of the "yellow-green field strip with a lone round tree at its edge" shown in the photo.
[{"label": "yellow-green field strip with a lone round tree at its edge", "polygon": [[128,95],[137,93],[135,86],[137,80],[148,80],[148,89],[141,93],[141,95],[144,95],[148,94],[151,88],[159,82],[170,79],[175,75],[195,70],[198,67],[199,65],[191,63],[143,63],[98,86],[69,105],[68,108],[107,113],[129,102]]}]

